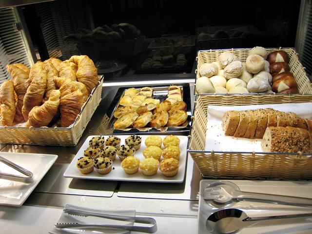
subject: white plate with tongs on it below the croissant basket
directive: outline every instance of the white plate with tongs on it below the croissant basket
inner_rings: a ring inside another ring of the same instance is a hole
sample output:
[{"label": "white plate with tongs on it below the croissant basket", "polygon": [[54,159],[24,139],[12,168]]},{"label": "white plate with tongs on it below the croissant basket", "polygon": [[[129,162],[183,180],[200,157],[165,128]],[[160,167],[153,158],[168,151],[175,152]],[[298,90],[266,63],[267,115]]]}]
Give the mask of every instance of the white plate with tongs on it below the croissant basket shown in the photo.
[{"label": "white plate with tongs on it below the croissant basket", "polygon": [[[32,183],[0,179],[0,205],[9,206],[21,206],[58,158],[57,155],[4,152],[0,156],[32,172],[34,177]],[[21,175],[4,163],[0,163],[0,172]]]}]

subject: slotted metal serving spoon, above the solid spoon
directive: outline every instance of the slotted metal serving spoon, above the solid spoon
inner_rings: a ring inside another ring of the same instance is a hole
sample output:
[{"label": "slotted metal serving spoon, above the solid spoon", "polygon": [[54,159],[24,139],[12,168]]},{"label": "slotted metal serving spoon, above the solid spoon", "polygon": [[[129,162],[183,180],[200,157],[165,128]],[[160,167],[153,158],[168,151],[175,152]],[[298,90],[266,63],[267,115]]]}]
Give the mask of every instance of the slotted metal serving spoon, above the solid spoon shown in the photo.
[{"label": "slotted metal serving spoon, above the solid spoon", "polygon": [[229,207],[239,201],[312,207],[311,198],[242,192],[230,181],[215,181],[202,191],[202,197],[214,207]]}]

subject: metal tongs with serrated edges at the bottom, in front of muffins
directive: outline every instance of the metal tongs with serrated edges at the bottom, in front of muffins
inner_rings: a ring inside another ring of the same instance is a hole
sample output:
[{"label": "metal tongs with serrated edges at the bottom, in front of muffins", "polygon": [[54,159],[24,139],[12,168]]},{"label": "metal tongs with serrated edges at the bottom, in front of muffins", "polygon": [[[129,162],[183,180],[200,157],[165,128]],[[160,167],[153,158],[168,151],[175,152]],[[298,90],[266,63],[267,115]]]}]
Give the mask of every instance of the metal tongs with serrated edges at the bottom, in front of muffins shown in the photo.
[{"label": "metal tongs with serrated edges at the bottom, in front of muffins", "polygon": [[63,210],[68,215],[78,215],[78,216],[94,216],[94,217],[101,217],[101,218],[109,218],[114,220],[120,221],[128,221],[134,223],[141,223],[141,224],[150,224],[149,226],[132,226],[132,225],[110,225],[110,224],[85,224],[85,223],[57,223],[55,227],[57,228],[88,228],[88,227],[95,227],[101,229],[123,229],[128,231],[134,232],[141,232],[141,233],[156,233],[157,225],[156,220],[154,218],[149,217],[131,217],[131,216],[123,216],[123,215],[107,215],[107,214],[100,214],[95,212],[88,212],[88,211],[81,211],[75,209],[64,209]]}]

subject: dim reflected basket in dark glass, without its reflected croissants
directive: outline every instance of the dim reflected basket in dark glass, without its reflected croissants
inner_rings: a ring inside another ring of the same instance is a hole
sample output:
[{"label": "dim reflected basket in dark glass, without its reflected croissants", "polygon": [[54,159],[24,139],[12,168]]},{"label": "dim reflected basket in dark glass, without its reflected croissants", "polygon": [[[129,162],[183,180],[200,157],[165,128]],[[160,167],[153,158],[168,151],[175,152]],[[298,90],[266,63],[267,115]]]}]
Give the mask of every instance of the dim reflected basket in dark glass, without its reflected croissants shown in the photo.
[{"label": "dim reflected basket in dark glass, without its reflected croissants", "polygon": [[106,41],[76,45],[81,55],[87,55],[94,62],[107,57],[131,57],[142,51],[145,36],[123,41]]}]

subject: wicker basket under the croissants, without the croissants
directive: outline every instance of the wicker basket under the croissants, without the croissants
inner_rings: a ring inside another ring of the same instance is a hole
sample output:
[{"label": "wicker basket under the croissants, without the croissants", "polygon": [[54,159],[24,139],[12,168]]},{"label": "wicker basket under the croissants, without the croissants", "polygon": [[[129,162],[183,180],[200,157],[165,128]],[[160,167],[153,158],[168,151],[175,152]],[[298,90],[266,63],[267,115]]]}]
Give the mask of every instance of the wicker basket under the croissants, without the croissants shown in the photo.
[{"label": "wicker basket under the croissants, without the croissants", "polygon": [[36,144],[75,146],[82,136],[93,113],[97,109],[102,96],[103,78],[99,77],[97,87],[81,107],[81,112],[75,122],[68,128],[25,128],[0,127],[0,142],[8,144]]}]

